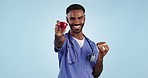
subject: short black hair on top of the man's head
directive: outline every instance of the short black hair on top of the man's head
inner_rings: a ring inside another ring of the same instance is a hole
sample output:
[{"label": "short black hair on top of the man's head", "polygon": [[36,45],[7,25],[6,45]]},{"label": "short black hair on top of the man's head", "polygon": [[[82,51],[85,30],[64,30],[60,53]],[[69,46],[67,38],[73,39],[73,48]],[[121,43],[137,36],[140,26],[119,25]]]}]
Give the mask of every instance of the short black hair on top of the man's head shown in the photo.
[{"label": "short black hair on top of the man's head", "polygon": [[80,4],[71,4],[69,7],[67,7],[66,14],[68,14],[71,10],[82,10],[85,13],[84,7]]}]

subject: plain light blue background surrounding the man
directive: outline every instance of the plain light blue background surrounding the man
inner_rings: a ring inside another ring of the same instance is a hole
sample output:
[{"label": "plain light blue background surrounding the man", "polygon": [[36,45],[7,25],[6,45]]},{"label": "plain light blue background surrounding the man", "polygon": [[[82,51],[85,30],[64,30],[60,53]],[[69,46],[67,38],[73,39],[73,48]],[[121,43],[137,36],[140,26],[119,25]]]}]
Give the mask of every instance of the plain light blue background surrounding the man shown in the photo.
[{"label": "plain light blue background surrounding the man", "polygon": [[54,26],[72,3],[85,35],[110,46],[100,78],[148,78],[148,0],[0,0],[0,78],[57,78]]}]

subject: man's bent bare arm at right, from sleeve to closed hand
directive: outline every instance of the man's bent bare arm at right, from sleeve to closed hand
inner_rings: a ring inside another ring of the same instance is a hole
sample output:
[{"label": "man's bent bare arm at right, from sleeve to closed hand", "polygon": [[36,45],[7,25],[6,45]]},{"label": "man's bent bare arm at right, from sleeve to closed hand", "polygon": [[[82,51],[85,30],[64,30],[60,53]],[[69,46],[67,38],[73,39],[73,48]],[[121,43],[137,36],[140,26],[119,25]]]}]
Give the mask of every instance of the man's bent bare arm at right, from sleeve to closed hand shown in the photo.
[{"label": "man's bent bare arm at right, from sleeve to closed hand", "polygon": [[94,66],[94,69],[93,69],[94,78],[98,78],[101,75],[103,71],[103,58],[109,50],[109,47],[106,44],[106,42],[99,42],[97,43],[97,46],[99,49],[99,55],[98,55],[96,65]]}]

